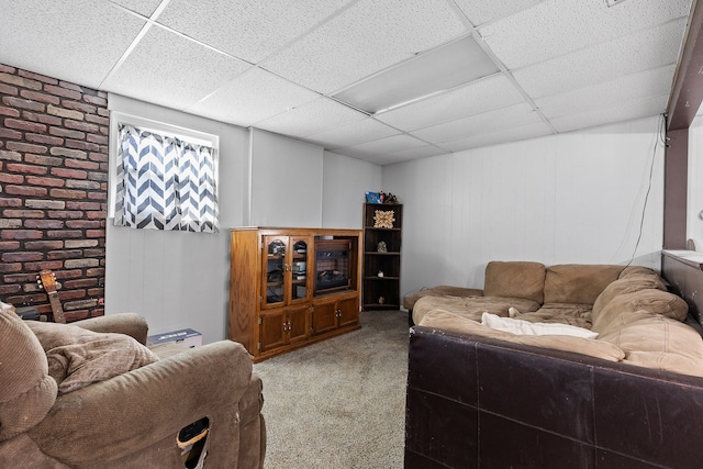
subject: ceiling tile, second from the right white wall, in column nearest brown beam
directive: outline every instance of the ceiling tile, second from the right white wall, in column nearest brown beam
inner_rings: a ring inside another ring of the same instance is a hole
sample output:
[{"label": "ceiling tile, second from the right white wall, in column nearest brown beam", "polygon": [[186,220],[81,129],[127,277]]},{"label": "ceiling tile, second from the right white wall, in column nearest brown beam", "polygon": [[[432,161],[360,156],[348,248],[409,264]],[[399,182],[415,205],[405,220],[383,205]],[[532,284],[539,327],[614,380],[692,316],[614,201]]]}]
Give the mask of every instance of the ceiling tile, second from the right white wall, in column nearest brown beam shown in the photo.
[{"label": "ceiling tile, second from the right white wall, in column nearest brown beam", "polygon": [[535,100],[546,118],[580,114],[600,108],[613,108],[618,102],[667,94],[676,66],[654,68],[626,75],[587,88]]}]

